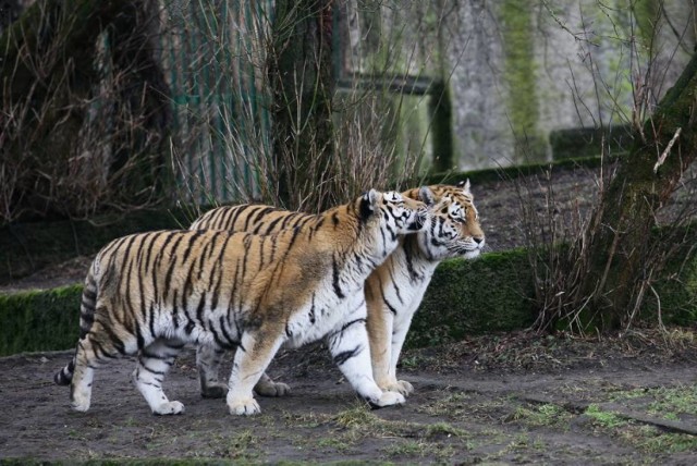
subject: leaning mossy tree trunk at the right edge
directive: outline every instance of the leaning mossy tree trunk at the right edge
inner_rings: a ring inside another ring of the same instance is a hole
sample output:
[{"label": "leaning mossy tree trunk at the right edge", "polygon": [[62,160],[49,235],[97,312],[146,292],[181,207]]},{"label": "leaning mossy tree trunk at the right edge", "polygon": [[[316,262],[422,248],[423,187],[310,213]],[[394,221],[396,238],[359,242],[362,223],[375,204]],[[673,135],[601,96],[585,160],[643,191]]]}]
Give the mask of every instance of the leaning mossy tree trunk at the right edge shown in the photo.
[{"label": "leaning mossy tree trunk at the right edge", "polygon": [[[694,127],[697,53],[653,116],[622,157],[615,176],[600,199],[589,226],[588,273],[578,289],[582,321],[601,330],[622,326],[660,265],[649,255],[656,212],[669,200],[685,169],[697,159]],[[680,135],[676,133],[680,131]],[[674,143],[669,148],[671,142]],[[661,155],[667,155],[658,163]],[[667,250],[668,247],[663,247]]]}]

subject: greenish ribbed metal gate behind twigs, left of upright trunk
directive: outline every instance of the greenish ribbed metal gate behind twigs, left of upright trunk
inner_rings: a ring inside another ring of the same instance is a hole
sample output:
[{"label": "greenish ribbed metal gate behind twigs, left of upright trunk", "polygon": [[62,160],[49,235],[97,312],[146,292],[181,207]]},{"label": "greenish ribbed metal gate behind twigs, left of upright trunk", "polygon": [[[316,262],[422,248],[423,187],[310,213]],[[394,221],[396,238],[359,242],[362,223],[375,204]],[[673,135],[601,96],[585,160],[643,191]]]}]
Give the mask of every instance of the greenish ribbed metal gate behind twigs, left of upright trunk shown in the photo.
[{"label": "greenish ribbed metal gate behind twigs, left of upright trunk", "polygon": [[273,2],[160,4],[178,198],[198,204],[255,198],[271,155],[265,50]]}]

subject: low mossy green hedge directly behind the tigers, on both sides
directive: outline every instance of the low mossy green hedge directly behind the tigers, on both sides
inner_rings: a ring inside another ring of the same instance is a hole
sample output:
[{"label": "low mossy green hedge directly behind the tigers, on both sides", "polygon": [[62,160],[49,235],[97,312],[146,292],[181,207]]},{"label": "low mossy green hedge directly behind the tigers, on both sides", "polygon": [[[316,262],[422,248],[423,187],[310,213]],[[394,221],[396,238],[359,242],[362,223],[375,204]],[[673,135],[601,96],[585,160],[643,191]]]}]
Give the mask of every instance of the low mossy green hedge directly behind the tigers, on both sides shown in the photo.
[{"label": "low mossy green hedge directly behind the tigers, on both sides", "polygon": [[[521,250],[448,260],[438,268],[407,345],[515,330],[533,321],[531,281]],[[0,295],[0,356],[66,350],[78,336],[82,285]]]}]

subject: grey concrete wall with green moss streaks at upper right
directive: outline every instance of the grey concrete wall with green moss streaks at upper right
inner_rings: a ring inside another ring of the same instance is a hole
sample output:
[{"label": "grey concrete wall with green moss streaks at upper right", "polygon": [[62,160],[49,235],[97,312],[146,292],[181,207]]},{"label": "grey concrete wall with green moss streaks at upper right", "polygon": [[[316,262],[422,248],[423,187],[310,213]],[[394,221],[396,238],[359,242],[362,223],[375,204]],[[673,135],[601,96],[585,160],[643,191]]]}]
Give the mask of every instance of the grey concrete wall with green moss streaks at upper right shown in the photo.
[{"label": "grey concrete wall with green moss streaks at upper right", "polygon": [[545,160],[555,130],[631,123],[634,93],[655,105],[695,42],[687,0],[442,3],[462,170]]}]

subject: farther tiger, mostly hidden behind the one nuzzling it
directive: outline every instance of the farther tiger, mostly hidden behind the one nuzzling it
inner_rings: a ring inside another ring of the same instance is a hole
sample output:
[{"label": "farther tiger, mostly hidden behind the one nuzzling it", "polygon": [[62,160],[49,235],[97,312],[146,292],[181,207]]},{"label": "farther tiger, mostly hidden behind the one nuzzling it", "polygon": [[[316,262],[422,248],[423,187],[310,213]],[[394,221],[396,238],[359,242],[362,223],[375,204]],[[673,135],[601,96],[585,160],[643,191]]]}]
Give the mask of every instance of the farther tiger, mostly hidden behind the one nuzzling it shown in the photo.
[{"label": "farther tiger, mostly hidden behind the one nuzzling it", "polygon": [[[402,193],[405,198],[430,204],[429,225],[416,235],[401,238],[400,246],[368,277],[365,286],[374,378],[381,390],[404,396],[409,395],[414,387],[405,380],[398,380],[396,366],[412,318],[436,267],[447,258],[474,259],[486,243],[469,180],[456,185],[432,185],[428,193],[431,198],[424,197],[420,188]],[[309,219],[311,216],[303,212],[246,204],[211,209],[194,221],[189,229],[272,234],[302,225]],[[197,368],[203,396],[223,395],[213,389],[222,353],[222,350],[199,347]],[[255,391],[262,396],[282,396],[290,393],[290,387],[264,375]]]}]

